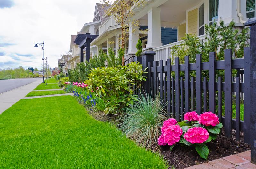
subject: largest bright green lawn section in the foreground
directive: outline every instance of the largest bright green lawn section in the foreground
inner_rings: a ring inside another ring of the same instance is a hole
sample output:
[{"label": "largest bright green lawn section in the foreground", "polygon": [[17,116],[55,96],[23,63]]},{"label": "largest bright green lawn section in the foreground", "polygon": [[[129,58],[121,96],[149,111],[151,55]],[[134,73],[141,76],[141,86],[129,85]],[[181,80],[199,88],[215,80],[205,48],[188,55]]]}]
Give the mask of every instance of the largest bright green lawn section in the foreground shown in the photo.
[{"label": "largest bright green lawn section in the foreground", "polygon": [[167,168],[72,96],[21,99],[0,115],[1,168]]}]

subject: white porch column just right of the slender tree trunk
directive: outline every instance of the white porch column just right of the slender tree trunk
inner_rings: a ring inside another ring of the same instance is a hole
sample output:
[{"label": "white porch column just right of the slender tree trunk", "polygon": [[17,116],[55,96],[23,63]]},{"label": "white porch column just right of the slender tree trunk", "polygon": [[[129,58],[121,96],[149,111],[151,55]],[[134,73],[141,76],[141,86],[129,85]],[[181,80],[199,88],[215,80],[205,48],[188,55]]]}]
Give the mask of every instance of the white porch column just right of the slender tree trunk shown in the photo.
[{"label": "white porch column just right of the slender tree trunk", "polygon": [[136,44],[139,40],[139,27],[137,25],[129,24],[129,46],[128,54],[135,54],[137,52]]}]

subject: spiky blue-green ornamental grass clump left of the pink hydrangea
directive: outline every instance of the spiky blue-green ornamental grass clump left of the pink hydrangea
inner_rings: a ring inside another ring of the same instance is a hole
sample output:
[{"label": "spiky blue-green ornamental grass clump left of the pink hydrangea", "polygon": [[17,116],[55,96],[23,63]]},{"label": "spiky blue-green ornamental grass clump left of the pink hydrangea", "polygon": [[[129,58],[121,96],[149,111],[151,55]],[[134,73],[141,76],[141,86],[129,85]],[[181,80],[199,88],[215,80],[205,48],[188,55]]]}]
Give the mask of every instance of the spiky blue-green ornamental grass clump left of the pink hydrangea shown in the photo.
[{"label": "spiky blue-green ornamental grass clump left of the pink hydrangea", "polygon": [[125,115],[121,119],[120,129],[137,145],[154,148],[161,134],[162,121],[166,120],[164,107],[159,96],[154,99],[151,95],[141,94],[137,103],[123,109]]}]

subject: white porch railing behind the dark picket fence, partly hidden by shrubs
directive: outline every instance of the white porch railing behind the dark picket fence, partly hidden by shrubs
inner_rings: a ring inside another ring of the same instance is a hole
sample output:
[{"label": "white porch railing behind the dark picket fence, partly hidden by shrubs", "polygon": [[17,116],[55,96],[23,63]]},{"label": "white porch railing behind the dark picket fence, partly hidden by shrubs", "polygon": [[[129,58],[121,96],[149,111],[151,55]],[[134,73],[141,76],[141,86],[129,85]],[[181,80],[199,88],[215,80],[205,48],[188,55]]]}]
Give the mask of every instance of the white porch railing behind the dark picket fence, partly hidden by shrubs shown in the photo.
[{"label": "white porch railing behind the dark picket fence, partly hidden by shrubs", "polygon": [[[202,42],[205,42],[205,37],[206,35],[198,36],[198,38],[202,40]],[[153,48],[153,51],[156,52],[156,55],[154,55],[154,61],[164,60],[165,65],[165,61],[167,61],[168,58],[171,58],[171,47],[175,45],[180,45],[182,43],[183,40]]]}]

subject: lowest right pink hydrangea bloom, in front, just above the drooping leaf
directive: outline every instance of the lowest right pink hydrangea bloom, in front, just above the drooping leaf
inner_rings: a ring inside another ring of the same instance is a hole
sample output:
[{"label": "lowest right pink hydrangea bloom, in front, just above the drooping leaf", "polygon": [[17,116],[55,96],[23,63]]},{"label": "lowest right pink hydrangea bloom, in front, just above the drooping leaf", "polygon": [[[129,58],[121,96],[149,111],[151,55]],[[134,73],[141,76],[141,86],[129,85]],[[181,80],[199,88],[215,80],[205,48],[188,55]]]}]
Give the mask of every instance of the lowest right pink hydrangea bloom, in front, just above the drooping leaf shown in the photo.
[{"label": "lowest right pink hydrangea bloom, in front, just above the drooping leaf", "polygon": [[193,127],[188,129],[184,134],[184,139],[188,142],[194,143],[204,143],[209,138],[209,133],[206,129],[202,127]]}]

